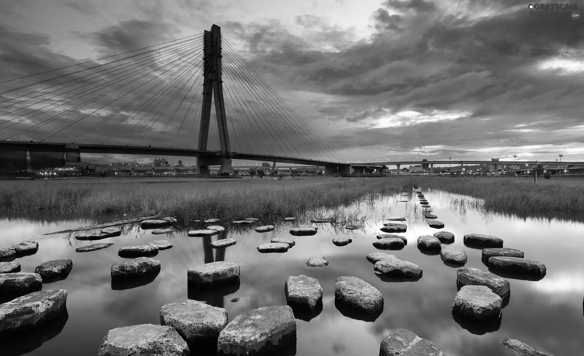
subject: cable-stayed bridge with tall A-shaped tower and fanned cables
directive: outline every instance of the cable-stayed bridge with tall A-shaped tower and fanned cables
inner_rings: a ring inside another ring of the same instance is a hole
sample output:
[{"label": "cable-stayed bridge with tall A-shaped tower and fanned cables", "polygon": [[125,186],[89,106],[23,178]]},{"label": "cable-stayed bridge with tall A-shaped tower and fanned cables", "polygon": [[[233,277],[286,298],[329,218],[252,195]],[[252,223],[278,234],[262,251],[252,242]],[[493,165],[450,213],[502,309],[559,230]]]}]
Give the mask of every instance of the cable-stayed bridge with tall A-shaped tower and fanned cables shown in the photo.
[{"label": "cable-stayed bridge with tall A-shaped tower and fanned cables", "polygon": [[26,169],[27,155],[33,168],[62,166],[80,162],[81,153],[196,156],[201,174],[213,165],[229,172],[232,159],[325,166],[329,174],[351,167],[217,25],[0,81],[0,169]]}]

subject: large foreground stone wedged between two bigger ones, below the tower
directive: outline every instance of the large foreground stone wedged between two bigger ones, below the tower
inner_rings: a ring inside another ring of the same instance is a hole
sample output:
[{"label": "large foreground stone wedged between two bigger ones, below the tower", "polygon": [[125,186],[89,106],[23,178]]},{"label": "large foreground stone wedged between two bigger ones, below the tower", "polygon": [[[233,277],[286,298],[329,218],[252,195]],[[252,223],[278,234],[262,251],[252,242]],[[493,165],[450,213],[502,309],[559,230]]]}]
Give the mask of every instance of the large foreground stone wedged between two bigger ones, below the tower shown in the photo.
[{"label": "large foreground stone wedged between two bigger ones, below the tower", "polygon": [[216,342],[227,322],[227,310],[197,301],[168,303],[160,308],[160,323],[175,328],[189,344]]}]

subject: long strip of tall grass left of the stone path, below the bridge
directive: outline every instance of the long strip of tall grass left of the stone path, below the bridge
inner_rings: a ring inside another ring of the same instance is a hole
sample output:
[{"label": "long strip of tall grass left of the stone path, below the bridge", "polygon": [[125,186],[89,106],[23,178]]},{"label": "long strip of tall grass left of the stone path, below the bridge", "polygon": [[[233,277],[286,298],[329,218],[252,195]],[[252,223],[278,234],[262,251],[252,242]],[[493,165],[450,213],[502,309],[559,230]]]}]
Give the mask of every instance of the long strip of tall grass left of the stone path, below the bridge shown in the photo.
[{"label": "long strip of tall grass left of the stone path, below the bridge", "polygon": [[0,207],[12,212],[171,215],[193,219],[298,216],[374,196],[397,193],[410,179],[228,180],[201,182],[105,182],[75,180],[3,183]]}]

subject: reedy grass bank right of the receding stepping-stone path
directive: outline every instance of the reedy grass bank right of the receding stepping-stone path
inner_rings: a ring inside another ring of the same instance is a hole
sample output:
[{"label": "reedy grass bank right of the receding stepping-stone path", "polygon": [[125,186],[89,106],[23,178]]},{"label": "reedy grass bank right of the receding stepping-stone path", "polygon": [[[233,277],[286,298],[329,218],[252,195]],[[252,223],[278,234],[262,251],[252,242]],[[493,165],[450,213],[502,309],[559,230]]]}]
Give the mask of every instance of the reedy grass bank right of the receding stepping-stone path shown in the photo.
[{"label": "reedy grass bank right of the receding stepping-stone path", "polygon": [[583,212],[584,188],[573,184],[551,184],[524,179],[472,179],[423,177],[415,180],[423,188],[465,194],[482,201],[474,208],[526,212]]}]

